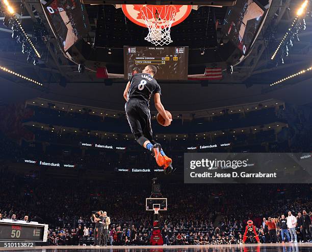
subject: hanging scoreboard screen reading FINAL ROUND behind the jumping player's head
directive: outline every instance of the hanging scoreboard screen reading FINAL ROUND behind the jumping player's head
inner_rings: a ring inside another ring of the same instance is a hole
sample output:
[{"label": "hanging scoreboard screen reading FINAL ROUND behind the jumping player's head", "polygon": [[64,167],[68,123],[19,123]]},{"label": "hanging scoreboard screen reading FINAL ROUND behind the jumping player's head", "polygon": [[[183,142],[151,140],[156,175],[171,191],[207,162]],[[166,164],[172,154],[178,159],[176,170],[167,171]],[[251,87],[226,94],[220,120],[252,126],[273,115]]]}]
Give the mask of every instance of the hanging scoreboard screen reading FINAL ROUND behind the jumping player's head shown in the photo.
[{"label": "hanging scoreboard screen reading FINAL ROUND behind the jumping player's head", "polygon": [[157,67],[155,79],[183,80],[188,78],[189,47],[124,46],[124,78],[130,79],[147,65]]}]

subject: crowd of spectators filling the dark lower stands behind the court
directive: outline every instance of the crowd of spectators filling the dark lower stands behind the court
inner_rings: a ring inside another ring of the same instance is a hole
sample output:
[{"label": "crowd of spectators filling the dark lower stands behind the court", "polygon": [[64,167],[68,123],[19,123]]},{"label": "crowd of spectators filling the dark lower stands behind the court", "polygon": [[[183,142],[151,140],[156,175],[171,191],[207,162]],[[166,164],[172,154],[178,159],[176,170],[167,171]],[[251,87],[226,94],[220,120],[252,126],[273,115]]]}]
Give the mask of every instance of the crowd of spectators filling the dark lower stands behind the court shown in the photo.
[{"label": "crowd of spectators filling the dark lower stands behind the court", "polygon": [[[145,211],[149,183],[34,180],[5,168],[0,175],[0,219],[28,216],[48,223],[50,245],[93,245],[90,217],[97,210],[107,211],[111,219],[108,245],[149,244],[153,218],[153,213]],[[164,243],[242,243],[248,219],[253,220],[262,243],[312,241],[310,184],[239,184],[232,188],[230,184],[164,186],[162,192],[168,198],[168,211],[160,215]],[[296,220],[297,240],[283,220],[289,211]],[[256,242],[254,235],[248,233],[246,242]]]}]

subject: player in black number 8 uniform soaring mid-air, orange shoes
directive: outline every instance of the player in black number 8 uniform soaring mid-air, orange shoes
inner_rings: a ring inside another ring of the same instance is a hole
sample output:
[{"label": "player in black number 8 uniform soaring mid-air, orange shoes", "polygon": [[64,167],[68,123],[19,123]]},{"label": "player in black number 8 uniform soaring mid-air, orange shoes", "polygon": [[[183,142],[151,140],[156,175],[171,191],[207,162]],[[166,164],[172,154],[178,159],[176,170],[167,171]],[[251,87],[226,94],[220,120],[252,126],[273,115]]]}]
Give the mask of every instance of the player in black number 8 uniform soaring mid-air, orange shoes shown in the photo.
[{"label": "player in black number 8 uniform soaring mid-air, orange shoes", "polygon": [[154,95],[154,104],[160,115],[165,119],[164,126],[171,124],[165,108],[161,102],[161,88],[153,78],[157,68],[149,65],[142,73],[136,73],[128,81],[123,92],[126,100],[125,111],[132,133],[139,145],[149,150],[159,166],[164,167],[165,174],[173,171],[172,159],[166,156],[161,145],[156,143],[152,136],[150,123],[149,101]]}]

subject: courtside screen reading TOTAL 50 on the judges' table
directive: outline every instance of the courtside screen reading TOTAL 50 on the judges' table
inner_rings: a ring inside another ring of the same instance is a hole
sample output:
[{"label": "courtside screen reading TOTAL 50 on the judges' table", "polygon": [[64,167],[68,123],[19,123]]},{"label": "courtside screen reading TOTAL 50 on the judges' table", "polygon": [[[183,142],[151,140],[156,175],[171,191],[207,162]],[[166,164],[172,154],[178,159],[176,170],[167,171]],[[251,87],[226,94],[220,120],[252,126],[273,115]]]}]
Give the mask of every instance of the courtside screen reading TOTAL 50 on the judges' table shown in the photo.
[{"label": "courtside screen reading TOTAL 50 on the judges' table", "polygon": [[0,222],[0,241],[43,241],[44,226]]}]

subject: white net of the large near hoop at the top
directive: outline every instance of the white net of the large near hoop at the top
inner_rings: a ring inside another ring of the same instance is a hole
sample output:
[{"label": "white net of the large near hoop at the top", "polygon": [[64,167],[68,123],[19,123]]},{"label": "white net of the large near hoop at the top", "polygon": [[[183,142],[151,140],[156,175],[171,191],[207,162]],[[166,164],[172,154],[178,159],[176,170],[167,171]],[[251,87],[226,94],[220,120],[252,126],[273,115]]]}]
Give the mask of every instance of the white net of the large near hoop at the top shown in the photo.
[{"label": "white net of the large near hoop at the top", "polygon": [[173,42],[170,37],[170,29],[175,14],[176,9],[173,5],[144,5],[141,15],[149,31],[145,40],[155,46],[168,45]]}]

